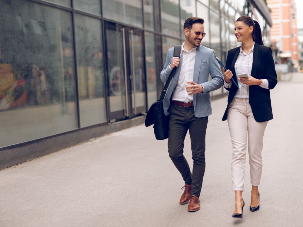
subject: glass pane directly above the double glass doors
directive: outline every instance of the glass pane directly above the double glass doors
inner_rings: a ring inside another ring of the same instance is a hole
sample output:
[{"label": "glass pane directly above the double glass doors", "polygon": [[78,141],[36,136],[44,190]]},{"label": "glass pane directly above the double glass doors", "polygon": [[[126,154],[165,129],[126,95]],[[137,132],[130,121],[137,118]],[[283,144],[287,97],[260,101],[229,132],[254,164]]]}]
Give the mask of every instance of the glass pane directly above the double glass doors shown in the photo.
[{"label": "glass pane directly above the double glass doors", "polygon": [[105,18],[143,27],[141,0],[103,0],[102,10]]}]

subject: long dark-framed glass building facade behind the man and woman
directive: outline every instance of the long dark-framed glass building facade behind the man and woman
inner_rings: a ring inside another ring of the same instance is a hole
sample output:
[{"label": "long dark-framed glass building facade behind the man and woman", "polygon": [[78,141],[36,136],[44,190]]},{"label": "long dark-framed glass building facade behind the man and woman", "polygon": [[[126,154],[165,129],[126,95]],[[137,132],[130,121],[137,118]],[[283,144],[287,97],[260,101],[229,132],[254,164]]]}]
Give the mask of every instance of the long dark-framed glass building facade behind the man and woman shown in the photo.
[{"label": "long dark-framed glass building facade behind the man and woman", "polygon": [[188,17],[205,20],[201,44],[223,61],[239,45],[240,15],[258,17],[269,45],[271,22],[249,2],[0,0],[0,152],[142,117],[161,92],[167,50],[183,42]]}]

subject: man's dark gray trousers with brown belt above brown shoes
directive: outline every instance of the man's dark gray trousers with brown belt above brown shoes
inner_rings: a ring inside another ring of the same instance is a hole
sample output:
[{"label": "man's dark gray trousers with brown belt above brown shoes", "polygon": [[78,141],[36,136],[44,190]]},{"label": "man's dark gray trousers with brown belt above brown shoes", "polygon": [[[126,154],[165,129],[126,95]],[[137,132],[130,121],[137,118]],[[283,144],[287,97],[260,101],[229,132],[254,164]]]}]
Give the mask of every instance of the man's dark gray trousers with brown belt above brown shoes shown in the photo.
[{"label": "man's dark gray trousers with brown belt above brown shoes", "polygon": [[[168,154],[181,173],[185,184],[191,184],[191,195],[200,196],[205,172],[205,134],[207,117],[195,117],[194,107],[181,107],[172,104],[168,131]],[[192,174],[183,155],[187,131],[191,139],[191,152],[194,161]]]}]

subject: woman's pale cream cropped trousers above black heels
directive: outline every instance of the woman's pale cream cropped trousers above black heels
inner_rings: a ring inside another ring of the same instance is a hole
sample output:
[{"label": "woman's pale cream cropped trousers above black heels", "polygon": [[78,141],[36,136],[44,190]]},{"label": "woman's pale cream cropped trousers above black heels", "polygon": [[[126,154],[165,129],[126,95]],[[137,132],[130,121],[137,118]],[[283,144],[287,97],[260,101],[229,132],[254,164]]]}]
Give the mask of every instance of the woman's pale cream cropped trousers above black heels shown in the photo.
[{"label": "woman's pale cream cropped trousers above black heels", "polygon": [[248,145],[250,182],[258,186],[262,174],[262,148],[266,122],[257,122],[248,98],[234,97],[227,114],[232,143],[231,180],[234,191],[243,191],[246,147]]}]

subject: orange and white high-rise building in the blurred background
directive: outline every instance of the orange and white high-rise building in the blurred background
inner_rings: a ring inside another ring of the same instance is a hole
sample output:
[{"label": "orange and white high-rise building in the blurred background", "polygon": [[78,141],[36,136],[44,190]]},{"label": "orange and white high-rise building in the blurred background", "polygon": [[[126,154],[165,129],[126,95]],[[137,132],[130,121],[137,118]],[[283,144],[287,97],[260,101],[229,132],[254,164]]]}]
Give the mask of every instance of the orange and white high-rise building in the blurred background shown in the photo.
[{"label": "orange and white high-rise building in the blurred background", "polygon": [[298,66],[297,9],[294,0],[267,0],[271,10],[271,46],[276,63]]}]

